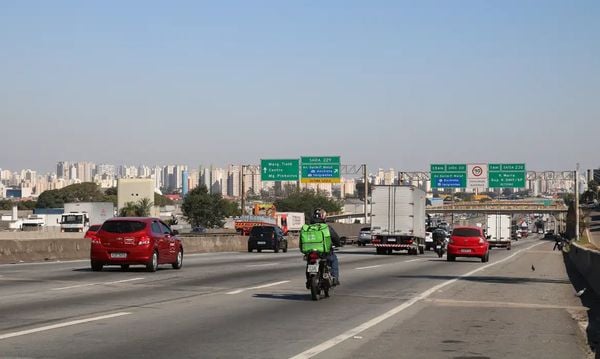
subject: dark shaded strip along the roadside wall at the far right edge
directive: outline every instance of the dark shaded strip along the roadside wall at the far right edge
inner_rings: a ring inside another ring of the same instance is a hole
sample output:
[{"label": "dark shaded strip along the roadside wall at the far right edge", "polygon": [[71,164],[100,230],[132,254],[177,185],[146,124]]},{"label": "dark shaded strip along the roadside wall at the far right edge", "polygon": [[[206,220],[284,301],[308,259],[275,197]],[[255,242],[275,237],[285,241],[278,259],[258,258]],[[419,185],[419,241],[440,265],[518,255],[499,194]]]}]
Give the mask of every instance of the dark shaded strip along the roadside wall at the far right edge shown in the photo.
[{"label": "dark shaded strip along the roadside wall at the far right edge", "polygon": [[569,259],[568,253],[563,253],[563,260],[567,269],[567,274],[575,292],[587,288],[581,295],[581,304],[588,308],[588,327],[586,330],[588,343],[594,351],[597,359],[600,358],[600,295],[595,293],[588,285],[585,278],[577,271],[575,265]]}]

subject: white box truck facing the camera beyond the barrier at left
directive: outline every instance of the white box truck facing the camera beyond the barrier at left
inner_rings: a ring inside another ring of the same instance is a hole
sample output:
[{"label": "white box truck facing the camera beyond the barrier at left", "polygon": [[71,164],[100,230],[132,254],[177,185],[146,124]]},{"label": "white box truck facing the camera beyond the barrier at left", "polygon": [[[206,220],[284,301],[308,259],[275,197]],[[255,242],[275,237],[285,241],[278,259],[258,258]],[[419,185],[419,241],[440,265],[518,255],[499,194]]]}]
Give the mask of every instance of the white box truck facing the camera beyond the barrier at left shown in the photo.
[{"label": "white box truck facing the camera beyond the barrier at left", "polygon": [[91,224],[102,224],[115,216],[112,202],[65,203],[60,219],[61,232],[83,232]]}]

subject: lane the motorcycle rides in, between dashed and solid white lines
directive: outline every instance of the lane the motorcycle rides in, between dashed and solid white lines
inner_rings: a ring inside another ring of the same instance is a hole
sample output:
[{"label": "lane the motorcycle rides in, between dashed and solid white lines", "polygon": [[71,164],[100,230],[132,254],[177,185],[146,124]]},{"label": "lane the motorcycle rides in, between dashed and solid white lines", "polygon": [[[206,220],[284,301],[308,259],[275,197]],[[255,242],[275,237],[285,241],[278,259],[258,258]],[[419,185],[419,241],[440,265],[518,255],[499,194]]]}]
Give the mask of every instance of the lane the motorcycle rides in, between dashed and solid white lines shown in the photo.
[{"label": "lane the motorcycle rides in, between dashed and solid white lines", "polygon": [[[506,252],[501,253],[505,255]],[[344,272],[344,285],[335,291],[335,295],[318,303],[310,301],[308,291],[304,288],[302,267],[302,272],[297,273],[294,280],[281,286],[249,290],[239,295],[188,297],[152,305],[115,308],[133,312],[132,319],[128,320],[134,324],[122,327],[121,323],[113,328],[112,321],[102,323],[102,326],[109,327],[100,333],[89,329],[95,334],[78,342],[76,347],[85,351],[62,351],[60,357],[128,357],[136,354],[135,350],[131,351],[130,340],[119,344],[119,338],[123,337],[130,338],[136,346],[148,348],[147,353],[154,353],[146,354],[150,357],[162,357],[167,352],[182,356],[210,353],[207,357],[246,357],[247,353],[255,357],[291,356],[314,346],[327,335],[359,325],[406,301],[416,291],[437,283],[436,280],[399,279],[398,274],[406,277],[420,273],[460,275],[480,265],[476,261],[448,263],[434,258],[420,258],[367,270],[350,269]],[[189,288],[183,286],[181,289]],[[99,325],[96,323],[85,327]],[[136,331],[135,328],[155,329],[148,332]],[[10,352],[12,355],[35,356],[48,350],[48,346],[53,346],[52,350],[60,350],[64,346],[60,343],[65,344],[65,337],[70,338],[69,330],[74,329],[61,329],[62,335],[58,332],[44,333],[42,337],[48,339],[43,340],[41,347],[30,345],[30,351],[17,350],[23,338],[9,339],[7,343],[9,348],[17,348]],[[137,337],[138,332],[143,335]],[[190,333],[194,335],[190,336]],[[93,345],[95,342],[90,343],[89,340],[97,336],[110,345],[96,348]],[[236,338],[235,344],[231,343],[231,338]],[[73,349],[73,346],[69,349]]]}]

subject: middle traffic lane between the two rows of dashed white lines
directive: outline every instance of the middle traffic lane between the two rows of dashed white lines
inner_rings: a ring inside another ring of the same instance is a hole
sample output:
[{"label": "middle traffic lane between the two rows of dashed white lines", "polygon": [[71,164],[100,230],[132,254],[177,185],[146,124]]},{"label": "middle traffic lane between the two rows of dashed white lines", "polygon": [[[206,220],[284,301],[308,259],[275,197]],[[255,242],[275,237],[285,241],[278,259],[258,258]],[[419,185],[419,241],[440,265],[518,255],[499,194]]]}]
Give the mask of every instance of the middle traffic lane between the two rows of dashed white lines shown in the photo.
[{"label": "middle traffic lane between the two rows of dashed white lines", "polygon": [[[360,250],[341,254],[342,266],[368,267],[412,260],[412,256],[365,254]],[[252,254],[245,253],[243,256],[252,256]],[[246,263],[258,263],[254,267],[237,266],[240,256],[232,254],[226,259],[229,262],[220,262],[219,267],[207,269],[200,263],[199,267],[195,268],[194,263],[203,262],[206,258],[192,257],[181,271],[161,267],[156,273],[145,273],[141,270],[121,272],[120,269],[96,273],[86,267],[75,269],[81,271],[78,272],[82,276],[81,281],[68,283],[51,281],[46,283],[46,287],[41,287],[39,283],[34,282],[18,291],[14,288],[2,288],[0,330],[25,328],[36,323],[77,318],[130,306],[153,305],[178,299],[223,294],[288,278],[303,278],[304,262],[297,255],[290,257],[288,261],[278,256],[277,263],[280,264],[276,268],[262,265],[269,264],[270,262],[265,262],[265,259],[274,258],[273,256],[258,254],[254,256],[261,258],[252,262],[246,261]]]}]

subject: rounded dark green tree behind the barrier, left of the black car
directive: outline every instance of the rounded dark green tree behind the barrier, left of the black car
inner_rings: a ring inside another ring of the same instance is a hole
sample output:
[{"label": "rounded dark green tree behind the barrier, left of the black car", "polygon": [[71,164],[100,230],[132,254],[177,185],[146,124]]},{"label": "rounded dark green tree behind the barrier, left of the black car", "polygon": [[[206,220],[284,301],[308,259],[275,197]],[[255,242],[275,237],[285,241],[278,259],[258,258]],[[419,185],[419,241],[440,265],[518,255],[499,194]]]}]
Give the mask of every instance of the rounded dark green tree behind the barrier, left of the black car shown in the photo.
[{"label": "rounded dark green tree behind the barrier, left of the black car", "polygon": [[220,193],[209,194],[206,186],[201,185],[188,192],[181,210],[192,227],[223,227],[232,207],[228,202]]}]

